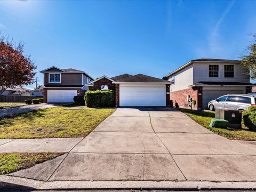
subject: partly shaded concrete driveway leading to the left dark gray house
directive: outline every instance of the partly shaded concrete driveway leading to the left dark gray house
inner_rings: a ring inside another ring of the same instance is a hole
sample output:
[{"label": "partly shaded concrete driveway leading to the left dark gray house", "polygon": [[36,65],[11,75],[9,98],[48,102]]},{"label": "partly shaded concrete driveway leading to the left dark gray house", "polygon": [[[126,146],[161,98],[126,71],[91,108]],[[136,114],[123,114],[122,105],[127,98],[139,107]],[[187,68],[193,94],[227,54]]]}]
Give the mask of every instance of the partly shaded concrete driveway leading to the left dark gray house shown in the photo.
[{"label": "partly shaded concrete driveway leading to the left dark gray house", "polygon": [[46,109],[52,107],[59,107],[69,105],[70,103],[39,103],[36,105],[26,105],[21,107],[12,107],[7,109],[0,109],[0,118],[5,116],[12,116],[22,113],[28,113],[31,111],[39,110],[39,109]]}]

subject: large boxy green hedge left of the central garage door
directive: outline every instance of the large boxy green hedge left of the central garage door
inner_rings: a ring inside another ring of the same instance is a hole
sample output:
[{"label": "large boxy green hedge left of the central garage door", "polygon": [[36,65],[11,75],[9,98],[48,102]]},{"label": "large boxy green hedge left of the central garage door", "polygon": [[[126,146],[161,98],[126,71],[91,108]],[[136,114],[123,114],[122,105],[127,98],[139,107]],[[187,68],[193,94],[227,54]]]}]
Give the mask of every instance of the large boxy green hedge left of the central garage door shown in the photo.
[{"label": "large boxy green hedge left of the central garage door", "polygon": [[84,100],[87,107],[115,107],[115,91],[86,91]]}]

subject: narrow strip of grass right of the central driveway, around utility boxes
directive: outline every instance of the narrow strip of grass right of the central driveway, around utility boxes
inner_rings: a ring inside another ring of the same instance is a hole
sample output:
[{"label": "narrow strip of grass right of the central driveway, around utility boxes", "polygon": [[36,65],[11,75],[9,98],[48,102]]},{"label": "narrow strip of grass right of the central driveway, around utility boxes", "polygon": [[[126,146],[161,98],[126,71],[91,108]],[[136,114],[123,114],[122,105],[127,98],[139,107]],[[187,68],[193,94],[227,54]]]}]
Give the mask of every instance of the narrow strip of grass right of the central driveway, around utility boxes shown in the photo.
[{"label": "narrow strip of grass right of the central driveway, around utility boxes", "polygon": [[223,137],[232,140],[246,140],[246,141],[256,141],[256,132],[249,131],[244,124],[242,124],[242,129],[220,129],[210,127],[211,119],[215,117],[214,113],[206,111],[196,111],[188,109],[179,109],[182,113],[185,113],[190,118],[192,118],[198,124],[201,124],[205,128],[211,130],[214,133],[217,133]]}]

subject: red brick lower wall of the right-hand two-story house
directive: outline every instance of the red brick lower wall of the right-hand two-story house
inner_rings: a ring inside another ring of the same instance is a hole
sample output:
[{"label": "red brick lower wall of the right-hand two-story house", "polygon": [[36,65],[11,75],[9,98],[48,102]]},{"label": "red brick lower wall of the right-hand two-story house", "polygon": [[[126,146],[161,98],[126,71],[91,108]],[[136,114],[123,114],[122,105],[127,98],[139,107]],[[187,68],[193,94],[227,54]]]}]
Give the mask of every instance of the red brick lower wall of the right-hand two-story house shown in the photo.
[{"label": "red brick lower wall of the right-hand two-story house", "polygon": [[178,104],[180,108],[189,108],[189,102],[187,101],[187,96],[196,101],[196,105],[192,105],[192,109],[200,110],[203,107],[203,94],[202,87],[198,86],[195,88],[189,88],[185,90],[179,90],[171,92],[170,99],[173,100],[173,105]]}]

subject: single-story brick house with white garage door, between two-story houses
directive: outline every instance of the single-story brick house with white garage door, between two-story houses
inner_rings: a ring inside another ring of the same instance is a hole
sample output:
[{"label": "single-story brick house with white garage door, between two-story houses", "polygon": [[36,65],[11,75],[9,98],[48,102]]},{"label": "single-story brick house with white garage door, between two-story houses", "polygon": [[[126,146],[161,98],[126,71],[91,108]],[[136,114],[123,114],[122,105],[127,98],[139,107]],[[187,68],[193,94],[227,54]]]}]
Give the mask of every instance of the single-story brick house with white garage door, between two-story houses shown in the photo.
[{"label": "single-story brick house with white garage door, between two-story houses", "polygon": [[170,84],[143,74],[124,74],[112,78],[102,76],[86,86],[89,90],[102,90],[106,86],[115,89],[116,107],[150,107],[170,106]]}]

